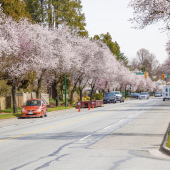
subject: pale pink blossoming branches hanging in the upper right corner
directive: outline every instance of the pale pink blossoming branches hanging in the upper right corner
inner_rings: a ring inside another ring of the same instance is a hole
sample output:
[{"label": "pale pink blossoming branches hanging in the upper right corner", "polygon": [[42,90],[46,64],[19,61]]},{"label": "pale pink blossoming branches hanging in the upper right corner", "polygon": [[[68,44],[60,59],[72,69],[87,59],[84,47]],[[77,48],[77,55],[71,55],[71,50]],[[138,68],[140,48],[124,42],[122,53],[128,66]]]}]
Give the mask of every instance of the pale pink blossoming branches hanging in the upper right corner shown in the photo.
[{"label": "pale pink blossoming branches hanging in the upper right corner", "polygon": [[134,28],[143,29],[162,21],[166,24],[164,29],[170,29],[169,0],[131,0],[129,6],[134,10],[134,17],[130,19],[134,23]]}]

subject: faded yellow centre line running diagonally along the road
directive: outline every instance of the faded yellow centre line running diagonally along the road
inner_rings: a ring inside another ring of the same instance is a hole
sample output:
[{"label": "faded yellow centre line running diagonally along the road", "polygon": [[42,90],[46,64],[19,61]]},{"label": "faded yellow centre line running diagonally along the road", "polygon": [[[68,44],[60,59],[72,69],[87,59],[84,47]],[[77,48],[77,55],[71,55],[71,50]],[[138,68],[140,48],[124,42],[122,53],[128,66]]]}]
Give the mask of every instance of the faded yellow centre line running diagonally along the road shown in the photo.
[{"label": "faded yellow centre line running diagonally along the road", "polygon": [[[138,104],[138,103],[135,103],[135,104]],[[55,128],[55,127],[58,127],[58,126],[63,126],[63,125],[66,125],[66,124],[70,124],[70,123],[73,123],[73,122],[81,121],[81,120],[88,119],[88,118],[91,118],[91,117],[99,116],[99,115],[102,115],[102,114],[105,114],[105,113],[108,113],[108,112],[112,112],[112,111],[116,111],[116,110],[122,109],[124,107],[130,107],[130,106],[135,105],[135,104],[131,104],[131,105],[128,105],[128,106],[123,106],[121,108],[117,108],[117,109],[114,109],[114,110],[109,110],[109,111],[98,113],[98,114],[95,114],[95,115],[92,115],[92,116],[83,117],[83,118],[80,118],[80,119],[72,120],[70,122],[65,122],[65,123],[61,123],[61,124],[58,124],[58,125],[50,126],[50,127],[47,127],[47,128],[43,128],[43,129],[39,129],[39,130],[36,130],[36,131],[32,131],[32,132],[29,132],[29,133],[25,133],[25,134],[21,134],[21,135],[18,135],[18,136],[10,137],[10,138],[7,138],[7,139],[0,140],[0,142],[6,141],[6,140],[10,140],[10,139],[19,138],[19,137],[26,136],[26,135],[30,135],[30,134],[33,134],[33,133],[36,133],[36,132],[48,130],[48,129]]]}]

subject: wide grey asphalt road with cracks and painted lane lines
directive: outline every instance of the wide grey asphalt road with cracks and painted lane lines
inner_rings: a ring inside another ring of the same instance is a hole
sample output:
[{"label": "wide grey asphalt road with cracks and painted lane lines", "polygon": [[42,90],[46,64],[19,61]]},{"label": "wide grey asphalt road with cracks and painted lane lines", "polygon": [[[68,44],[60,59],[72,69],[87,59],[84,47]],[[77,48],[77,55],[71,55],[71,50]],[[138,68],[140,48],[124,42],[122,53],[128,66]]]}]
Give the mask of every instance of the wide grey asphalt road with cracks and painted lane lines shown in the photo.
[{"label": "wide grey asphalt road with cracks and painted lane lines", "polygon": [[161,98],[129,100],[1,127],[0,170],[169,170],[159,151],[169,110]]}]

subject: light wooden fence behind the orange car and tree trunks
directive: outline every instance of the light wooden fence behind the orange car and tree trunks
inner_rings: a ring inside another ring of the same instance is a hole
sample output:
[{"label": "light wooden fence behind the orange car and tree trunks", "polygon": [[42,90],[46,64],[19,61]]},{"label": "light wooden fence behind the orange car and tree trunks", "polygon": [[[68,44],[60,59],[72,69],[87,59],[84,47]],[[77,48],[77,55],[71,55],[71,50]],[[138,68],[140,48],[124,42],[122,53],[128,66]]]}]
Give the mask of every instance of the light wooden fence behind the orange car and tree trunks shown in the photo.
[{"label": "light wooden fence behind the orange car and tree trunks", "polygon": [[[31,93],[17,93],[17,106],[21,107],[23,104],[29,100],[29,99],[36,99],[36,92]],[[40,98],[49,105],[49,94],[41,93]],[[12,108],[13,102],[12,102],[12,95],[7,94],[6,97],[0,97],[0,110],[4,110],[6,108]]]}]

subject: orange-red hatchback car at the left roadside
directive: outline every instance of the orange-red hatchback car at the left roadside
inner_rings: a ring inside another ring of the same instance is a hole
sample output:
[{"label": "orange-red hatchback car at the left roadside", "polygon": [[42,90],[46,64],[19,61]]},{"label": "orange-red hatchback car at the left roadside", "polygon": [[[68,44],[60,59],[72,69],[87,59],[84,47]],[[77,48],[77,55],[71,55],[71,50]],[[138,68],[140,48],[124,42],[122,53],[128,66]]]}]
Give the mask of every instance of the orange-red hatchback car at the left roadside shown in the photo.
[{"label": "orange-red hatchback car at the left roadside", "polygon": [[22,118],[47,116],[47,106],[41,99],[27,100],[22,106]]}]

